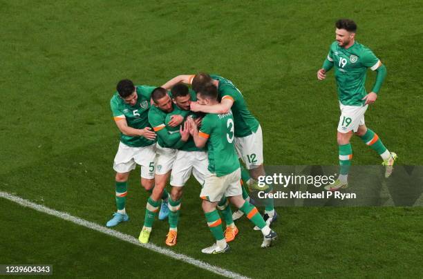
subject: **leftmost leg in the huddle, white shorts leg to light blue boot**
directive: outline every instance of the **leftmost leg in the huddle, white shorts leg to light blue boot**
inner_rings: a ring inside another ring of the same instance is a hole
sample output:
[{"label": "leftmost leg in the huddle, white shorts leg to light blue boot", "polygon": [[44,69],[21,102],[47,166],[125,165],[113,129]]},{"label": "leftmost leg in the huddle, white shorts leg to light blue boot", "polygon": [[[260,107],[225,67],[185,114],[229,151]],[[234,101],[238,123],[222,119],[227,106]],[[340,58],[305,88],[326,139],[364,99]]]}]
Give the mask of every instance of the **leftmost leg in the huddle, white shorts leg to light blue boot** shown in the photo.
[{"label": "leftmost leg in the huddle, white shorts leg to light blue boot", "polygon": [[139,148],[126,146],[120,142],[118,152],[113,161],[113,169],[116,171],[115,175],[115,202],[118,208],[117,212],[113,214],[113,218],[106,223],[106,227],[114,227],[120,222],[128,221],[129,216],[126,214],[126,195],[128,193],[128,178],[129,173],[135,169],[134,157],[139,151]]}]

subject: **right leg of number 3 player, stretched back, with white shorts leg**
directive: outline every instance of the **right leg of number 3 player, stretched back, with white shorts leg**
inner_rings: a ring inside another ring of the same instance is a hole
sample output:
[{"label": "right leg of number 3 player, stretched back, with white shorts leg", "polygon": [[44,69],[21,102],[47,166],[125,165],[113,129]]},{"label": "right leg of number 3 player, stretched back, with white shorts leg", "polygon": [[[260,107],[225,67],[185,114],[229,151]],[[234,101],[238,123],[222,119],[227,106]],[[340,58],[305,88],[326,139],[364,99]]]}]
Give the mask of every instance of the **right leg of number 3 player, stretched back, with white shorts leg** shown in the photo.
[{"label": "right leg of number 3 player, stretched back, with white shorts leg", "polygon": [[241,195],[241,184],[239,182],[240,177],[240,169],[227,175],[227,181],[229,185],[227,186],[225,195],[227,195],[230,202],[234,204],[234,206],[243,211],[243,213],[247,216],[248,219],[250,219],[253,224],[259,227],[264,237],[261,247],[270,247],[272,240],[276,240],[276,233],[272,231],[266,224],[265,220],[263,220],[263,217],[261,217],[256,207],[243,199]]}]

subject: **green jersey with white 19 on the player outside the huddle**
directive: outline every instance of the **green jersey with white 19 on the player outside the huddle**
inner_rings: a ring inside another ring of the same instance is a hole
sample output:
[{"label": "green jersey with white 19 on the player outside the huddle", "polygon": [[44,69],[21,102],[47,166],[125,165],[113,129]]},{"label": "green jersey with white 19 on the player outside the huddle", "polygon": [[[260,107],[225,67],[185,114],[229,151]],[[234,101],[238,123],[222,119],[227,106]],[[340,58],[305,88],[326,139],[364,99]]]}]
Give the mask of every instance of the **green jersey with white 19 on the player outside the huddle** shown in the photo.
[{"label": "green jersey with white 19 on the player outside the huddle", "polygon": [[367,94],[364,88],[367,68],[376,70],[382,63],[369,48],[357,41],[348,49],[334,41],[328,60],[335,67],[339,102],[346,106],[362,106],[365,102],[362,99]]}]

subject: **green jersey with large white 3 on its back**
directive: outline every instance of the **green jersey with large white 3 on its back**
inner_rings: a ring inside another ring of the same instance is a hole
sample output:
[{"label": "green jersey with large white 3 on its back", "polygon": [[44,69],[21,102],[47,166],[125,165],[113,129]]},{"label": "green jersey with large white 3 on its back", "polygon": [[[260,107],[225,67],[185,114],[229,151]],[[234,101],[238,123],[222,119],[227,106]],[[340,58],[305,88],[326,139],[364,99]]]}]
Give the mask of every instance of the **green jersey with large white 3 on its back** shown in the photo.
[{"label": "green jersey with large white 3 on its back", "polygon": [[234,146],[234,117],[231,111],[220,115],[214,113],[205,115],[198,135],[208,139],[210,172],[216,173],[216,176],[223,176],[233,173],[240,167]]}]

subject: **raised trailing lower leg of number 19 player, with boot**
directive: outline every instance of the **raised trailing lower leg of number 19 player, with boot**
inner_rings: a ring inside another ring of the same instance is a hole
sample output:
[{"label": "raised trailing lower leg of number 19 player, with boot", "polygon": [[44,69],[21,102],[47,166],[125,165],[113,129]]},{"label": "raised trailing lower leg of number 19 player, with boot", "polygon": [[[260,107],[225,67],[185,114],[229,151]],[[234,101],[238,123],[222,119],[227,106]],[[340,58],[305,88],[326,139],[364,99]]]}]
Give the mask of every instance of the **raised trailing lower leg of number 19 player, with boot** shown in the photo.
[{"label": "raised trailing lower leg of number 19 player, with boot", "polygon": [[370,148],[372,148],[377,152],[377,154],[380,155],[380,157],[382,157],[382,160],[384,160],[382,164],[386,166],[385,177],[389,177],[393,171],[393,164],[397,159],[397,154],[394,152],[389,152],[388,148],[384,146],[379,136],[370,130],[370,128],[367,128],[366,125],[364,125],[364,117],[363,122],[359,126],[355,135],[358,135],[365,144],[370,146]]}]

